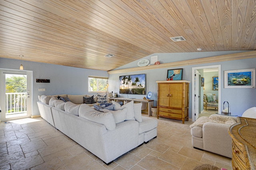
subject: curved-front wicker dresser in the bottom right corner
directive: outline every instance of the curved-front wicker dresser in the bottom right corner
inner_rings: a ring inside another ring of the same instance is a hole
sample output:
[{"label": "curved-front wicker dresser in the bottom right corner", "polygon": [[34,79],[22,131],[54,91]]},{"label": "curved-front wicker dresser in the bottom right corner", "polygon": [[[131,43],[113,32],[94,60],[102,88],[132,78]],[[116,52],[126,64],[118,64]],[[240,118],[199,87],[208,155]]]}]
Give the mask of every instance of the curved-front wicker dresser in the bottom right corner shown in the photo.
[{"label": "curved-front wicker dresser in the bottom right corner", "polygon": [[256,119],[238,117],[238,123],[231,126],[232,167],[234,170],[256,169]]}]

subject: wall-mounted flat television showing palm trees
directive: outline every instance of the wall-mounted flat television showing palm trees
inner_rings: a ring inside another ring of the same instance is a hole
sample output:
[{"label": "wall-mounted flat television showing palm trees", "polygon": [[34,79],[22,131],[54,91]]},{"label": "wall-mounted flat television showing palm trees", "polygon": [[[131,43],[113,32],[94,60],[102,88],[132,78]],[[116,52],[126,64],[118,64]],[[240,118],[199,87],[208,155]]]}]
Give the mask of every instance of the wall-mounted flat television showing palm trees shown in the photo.
[{"label": "wall-mounted flat television showing palm trees", "polygon": [[120,76],[119,93],[145,95],[146,74]]}]

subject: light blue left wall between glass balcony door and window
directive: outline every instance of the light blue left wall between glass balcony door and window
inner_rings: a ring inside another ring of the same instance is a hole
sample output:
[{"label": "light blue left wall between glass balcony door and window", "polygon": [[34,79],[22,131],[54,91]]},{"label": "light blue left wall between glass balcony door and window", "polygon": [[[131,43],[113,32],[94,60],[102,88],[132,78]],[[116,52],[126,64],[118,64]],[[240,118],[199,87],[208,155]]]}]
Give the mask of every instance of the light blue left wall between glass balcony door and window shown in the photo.
[{"label": "light blue left wall between glass balcony door and window", "polygon": [[[88,76],[108,77],[106,71],[81,69],[62,65],[22,61],[24,70],[33,71],[32,115],[39,115],[38,95],[88,94]],[[20,60],[0,58],[0,68],[19,69]],[[36,79],[50,79],[50,83],[36,83]],[[38,88],[46,88],[39,92]],[[93,93],[92,93],[93,94]]]}]

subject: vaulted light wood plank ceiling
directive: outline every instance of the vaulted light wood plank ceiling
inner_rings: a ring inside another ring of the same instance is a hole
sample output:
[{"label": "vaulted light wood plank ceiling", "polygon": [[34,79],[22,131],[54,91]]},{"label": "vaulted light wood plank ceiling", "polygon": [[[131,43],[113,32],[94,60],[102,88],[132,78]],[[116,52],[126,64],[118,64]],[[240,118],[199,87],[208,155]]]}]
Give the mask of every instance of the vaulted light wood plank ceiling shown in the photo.
[{"label": "vaulted light wood plank ceiling", "polygon": [[109,71],[197,48],[255,50],[256,0],[0,1],[3,58]]}]

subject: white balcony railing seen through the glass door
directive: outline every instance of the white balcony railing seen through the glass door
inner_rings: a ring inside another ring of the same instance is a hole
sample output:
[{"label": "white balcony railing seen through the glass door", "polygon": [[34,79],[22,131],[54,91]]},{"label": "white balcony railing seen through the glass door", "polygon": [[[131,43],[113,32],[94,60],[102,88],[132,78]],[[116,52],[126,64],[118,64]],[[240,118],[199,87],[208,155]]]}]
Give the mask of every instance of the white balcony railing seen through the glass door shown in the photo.
[{"label": "white balcony railing seen through the glass door", "polygon": [[27,112],[27,93],[6,93],[6,115]]}]

